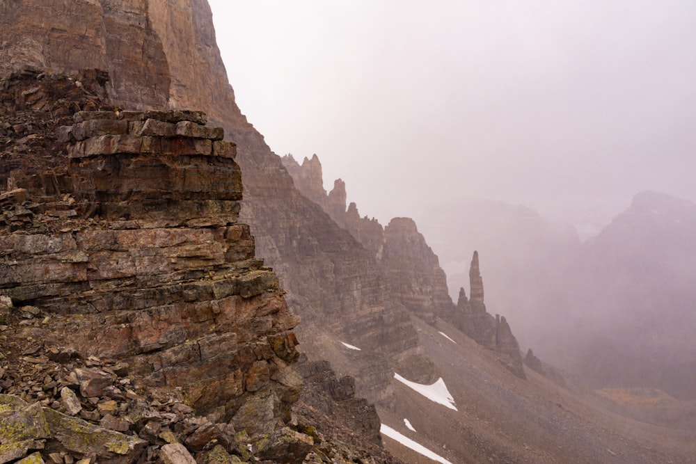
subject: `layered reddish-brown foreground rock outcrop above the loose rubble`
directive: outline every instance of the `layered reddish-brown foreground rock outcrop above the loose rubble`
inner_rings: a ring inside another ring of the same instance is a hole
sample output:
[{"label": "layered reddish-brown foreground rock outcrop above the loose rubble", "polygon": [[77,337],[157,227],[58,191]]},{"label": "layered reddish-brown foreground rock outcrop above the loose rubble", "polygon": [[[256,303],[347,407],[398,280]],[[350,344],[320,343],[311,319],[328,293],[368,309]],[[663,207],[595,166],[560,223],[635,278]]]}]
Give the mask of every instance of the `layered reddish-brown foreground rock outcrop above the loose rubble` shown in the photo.
[{"label": "layered reddish-brown foreground rock outcrop above the loose rubble", "polygon": [[67,169],[11,173],[3,213],[26,213],[0,224],[0,294],[45,318],[8,335],[125,361],[138,387],[184,389],[197,410],[268,432],[299,396],[299,318],[237,223],[235,145],[205,122],[77,113],[58,131]]}]

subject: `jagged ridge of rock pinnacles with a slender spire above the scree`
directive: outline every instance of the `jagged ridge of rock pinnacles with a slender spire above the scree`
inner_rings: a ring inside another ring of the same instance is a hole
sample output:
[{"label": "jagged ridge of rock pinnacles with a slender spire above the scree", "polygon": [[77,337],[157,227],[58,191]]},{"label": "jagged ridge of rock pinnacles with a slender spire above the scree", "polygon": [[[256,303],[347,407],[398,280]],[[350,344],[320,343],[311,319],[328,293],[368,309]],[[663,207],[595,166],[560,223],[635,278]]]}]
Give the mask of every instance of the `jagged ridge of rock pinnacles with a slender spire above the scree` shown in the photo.
[{"label": "jagged ridge of rock pinnacles with a slender spire above the scree", "polygon": [[283,163],[303,193],[315,199],[336,223],[372,251],[386,274],[391,301],[430,324],[438,319],[452,323],[477,343],[500,353],[505,366],[516,376],[525,378],[519,344],[507,320],[498,314],[493,317],[486,310],[477,252],[474,252],[469,270],[471,300],[461,289],[455,307],[438,257],[418,232],[413,219],[393,218],[382,228],[374,218],[361,218],[355,203],[346,209],[345,183],[338,179],[327,194],[317,155],[311,160],[305,158],[301,165],[292,155],[286,155]]}]

